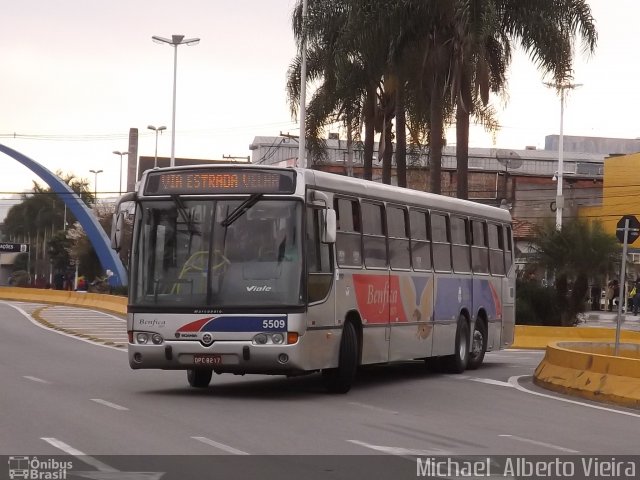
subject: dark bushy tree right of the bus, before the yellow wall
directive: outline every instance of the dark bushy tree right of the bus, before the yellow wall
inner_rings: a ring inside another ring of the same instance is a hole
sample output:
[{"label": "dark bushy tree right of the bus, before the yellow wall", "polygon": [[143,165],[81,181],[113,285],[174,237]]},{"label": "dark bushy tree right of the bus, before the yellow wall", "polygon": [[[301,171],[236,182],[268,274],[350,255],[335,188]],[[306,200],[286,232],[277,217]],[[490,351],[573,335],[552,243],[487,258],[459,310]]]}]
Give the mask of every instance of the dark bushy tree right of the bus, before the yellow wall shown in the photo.
[{"label": "dark bushy tree right of the bus, before the yellow wall", "polygon": [[620,245],[599,221],[577,218],[557,230],[555,222],[537,227],[531,248],[534,264],[552,272],[562,324],[572,325],[584,311],[589,279],[603,279],[620,264]]}]

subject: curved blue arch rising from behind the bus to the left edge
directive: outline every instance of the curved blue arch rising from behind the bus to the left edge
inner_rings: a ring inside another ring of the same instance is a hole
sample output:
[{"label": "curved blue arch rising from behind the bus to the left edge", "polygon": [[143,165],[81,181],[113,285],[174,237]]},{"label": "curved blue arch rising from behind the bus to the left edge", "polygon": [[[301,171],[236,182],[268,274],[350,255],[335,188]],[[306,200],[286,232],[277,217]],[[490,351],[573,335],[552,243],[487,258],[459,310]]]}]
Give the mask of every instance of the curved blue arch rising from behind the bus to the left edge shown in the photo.
[{"label": "curved blue arch rising from behind the bus to the left edge", "polygon": [[69,207],[82,225],[82,228],[87,232],[87,237],[98,255],[102,268],[113,272],[113,276],[109,279],[109,284],[114,287],[127,285],[127,271],[122,264],[122,260],[120,260],[118,254],[111,249],[111,241],[107,237],[107,234],[78,194],[71,190],[69,185],[63,182],[57,175],[20,152],[16,152],[2,144],[0,144],[0,151],[14,158],[47,182],[51,189],[58,194],[67,207]]}]

